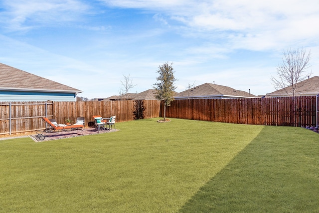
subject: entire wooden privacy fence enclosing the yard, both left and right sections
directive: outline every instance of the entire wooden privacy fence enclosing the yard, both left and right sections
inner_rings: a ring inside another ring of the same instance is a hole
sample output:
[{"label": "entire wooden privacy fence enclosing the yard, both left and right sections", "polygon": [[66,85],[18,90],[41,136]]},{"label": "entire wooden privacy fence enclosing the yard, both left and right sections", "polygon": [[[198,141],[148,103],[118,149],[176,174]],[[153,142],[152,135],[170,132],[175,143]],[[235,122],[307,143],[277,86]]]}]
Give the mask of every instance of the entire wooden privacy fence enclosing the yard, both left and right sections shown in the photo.
[{"label": "entire wooden privacy fence enclosing the yard, both left and right sections", "polygon": [[[83,102],[0,102],[0,135],[36,131],[45,128],[42,117],[85,118],[91,126],[93,115],[116,121],[130,121],[162,116],[157,100],[83,101]],[[260,99],[187,99],[175,100],[166,107],[166,117],[238,124],[278,126],[318,126],[318,97],[283,97]]]}]

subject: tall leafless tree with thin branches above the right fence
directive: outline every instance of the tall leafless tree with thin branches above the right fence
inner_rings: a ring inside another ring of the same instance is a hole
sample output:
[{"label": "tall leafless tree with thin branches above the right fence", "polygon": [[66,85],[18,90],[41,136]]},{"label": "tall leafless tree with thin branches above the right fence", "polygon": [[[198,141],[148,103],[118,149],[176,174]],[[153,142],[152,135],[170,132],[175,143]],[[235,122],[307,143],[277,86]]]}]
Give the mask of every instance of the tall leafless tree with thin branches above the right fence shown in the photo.
[{"label": "tall leafless tree with thin branches above the right fence", "polygon": [[[305,74],[310,67],[311,52],[305,49],[287,49],[283,51],[283,62],[277,67],[277,77],[271,76],[272,84],[275,89],[284,89],[285,92],[293,97],[298,91],[297,83],[309,78],[312,72]],[[302,86],[299,84],[299,86]],[[301,92],[301,91],[299,91]]]}]

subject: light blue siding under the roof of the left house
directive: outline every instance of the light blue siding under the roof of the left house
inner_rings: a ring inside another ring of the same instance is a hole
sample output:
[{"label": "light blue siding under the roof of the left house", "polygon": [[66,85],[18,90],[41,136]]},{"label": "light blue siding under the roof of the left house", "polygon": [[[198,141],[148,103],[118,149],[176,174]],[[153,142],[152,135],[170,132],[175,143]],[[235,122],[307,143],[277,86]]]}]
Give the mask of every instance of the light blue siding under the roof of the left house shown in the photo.
[{"label": "light blue siding under the roof of the left house", "polygon": [[75,101],[74,93],[0,91],[0,101]]}]

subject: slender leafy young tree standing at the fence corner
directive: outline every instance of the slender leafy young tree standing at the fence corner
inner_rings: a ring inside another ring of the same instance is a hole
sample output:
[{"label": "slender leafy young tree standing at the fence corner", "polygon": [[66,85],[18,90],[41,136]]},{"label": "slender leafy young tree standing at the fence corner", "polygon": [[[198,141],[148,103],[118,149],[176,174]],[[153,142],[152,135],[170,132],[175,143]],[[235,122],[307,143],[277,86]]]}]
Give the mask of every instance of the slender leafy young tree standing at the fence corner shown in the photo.
[{"label": "slender leafy young tree standing at the fence corner", "polygon": [[174,90],[176,87],[174,86],[175,81],[177,80],[174,77],[174,72],[172,63],[169,65],[168,62],[159,66],[159,70],[157,73],[160,74],[157,77],[158,83],[153,85],[155,89],[155,98],[160,101],[164,101],[164,115],[163,120],[165,121],[166,114],[166,106],[170,106],[170,102],[174,100]]}]

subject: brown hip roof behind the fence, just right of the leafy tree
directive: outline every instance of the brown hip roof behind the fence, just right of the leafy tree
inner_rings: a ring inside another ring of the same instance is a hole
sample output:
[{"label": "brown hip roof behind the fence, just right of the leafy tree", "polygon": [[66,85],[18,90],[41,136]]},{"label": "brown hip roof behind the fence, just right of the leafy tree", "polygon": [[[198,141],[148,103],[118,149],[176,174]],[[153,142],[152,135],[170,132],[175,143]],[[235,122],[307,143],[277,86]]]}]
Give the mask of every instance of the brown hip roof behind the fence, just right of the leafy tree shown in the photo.
[{"label": "brown hip roof behind the fence, just right of the leafy tree", "polygon": [[177,93],[175,99],[186,98],[258,98],[251,93],[236,90],[228,86],[218,84],[204,83],[199,86],[187,89],[183,92]]}]

